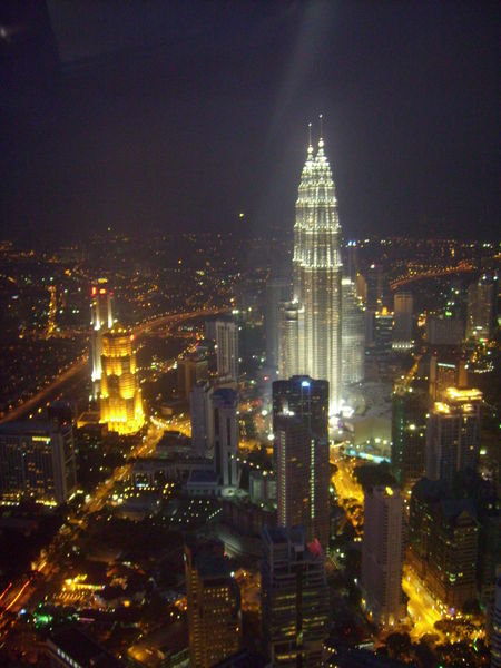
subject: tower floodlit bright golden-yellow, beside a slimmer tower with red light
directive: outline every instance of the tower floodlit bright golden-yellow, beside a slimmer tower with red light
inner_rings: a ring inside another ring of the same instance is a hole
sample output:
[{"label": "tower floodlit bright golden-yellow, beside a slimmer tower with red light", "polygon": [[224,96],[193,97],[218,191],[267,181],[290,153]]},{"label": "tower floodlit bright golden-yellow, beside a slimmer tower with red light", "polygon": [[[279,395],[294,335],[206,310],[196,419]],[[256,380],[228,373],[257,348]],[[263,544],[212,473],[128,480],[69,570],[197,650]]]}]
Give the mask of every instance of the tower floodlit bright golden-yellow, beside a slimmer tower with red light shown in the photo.
[{"label": "tower floodlit bright golden-yellow, beside a slimmer tower with red light", "polygon": [[102,334],[100,419],[109,431],[137,433],[144,422],[134,334],[119,324]]}]

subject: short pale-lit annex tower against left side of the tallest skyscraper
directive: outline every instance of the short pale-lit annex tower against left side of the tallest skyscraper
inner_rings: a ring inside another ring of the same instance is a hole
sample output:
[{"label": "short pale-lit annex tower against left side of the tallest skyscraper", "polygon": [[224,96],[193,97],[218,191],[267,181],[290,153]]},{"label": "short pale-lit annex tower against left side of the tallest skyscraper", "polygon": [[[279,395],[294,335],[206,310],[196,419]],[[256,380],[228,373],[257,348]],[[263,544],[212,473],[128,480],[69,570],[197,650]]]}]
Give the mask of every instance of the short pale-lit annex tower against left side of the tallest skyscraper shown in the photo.
[{"label": "short pale-lit annex tower against left side of the tallest skyscraper", "polygon": [[304,370],[304,307],[298,302],[284,302],[278,317],[278,373],[288,379]]}]

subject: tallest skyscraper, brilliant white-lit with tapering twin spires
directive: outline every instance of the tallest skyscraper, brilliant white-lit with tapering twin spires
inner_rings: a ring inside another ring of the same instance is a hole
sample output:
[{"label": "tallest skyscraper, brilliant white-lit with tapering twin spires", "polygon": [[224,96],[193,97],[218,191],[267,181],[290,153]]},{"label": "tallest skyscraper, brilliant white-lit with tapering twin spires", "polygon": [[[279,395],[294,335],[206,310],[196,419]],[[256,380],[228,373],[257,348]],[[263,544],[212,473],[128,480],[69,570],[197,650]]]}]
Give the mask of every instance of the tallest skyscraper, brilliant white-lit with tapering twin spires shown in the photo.
[{"label": "tallest skyscraper, brilliant white-lit with tapering twin spires", "polygon": [[294,299],[304,307],[304,372],[328,381],[331,411],[341,401],[341,227],[331,166],[321,137],[307,149],[294,225]]}]

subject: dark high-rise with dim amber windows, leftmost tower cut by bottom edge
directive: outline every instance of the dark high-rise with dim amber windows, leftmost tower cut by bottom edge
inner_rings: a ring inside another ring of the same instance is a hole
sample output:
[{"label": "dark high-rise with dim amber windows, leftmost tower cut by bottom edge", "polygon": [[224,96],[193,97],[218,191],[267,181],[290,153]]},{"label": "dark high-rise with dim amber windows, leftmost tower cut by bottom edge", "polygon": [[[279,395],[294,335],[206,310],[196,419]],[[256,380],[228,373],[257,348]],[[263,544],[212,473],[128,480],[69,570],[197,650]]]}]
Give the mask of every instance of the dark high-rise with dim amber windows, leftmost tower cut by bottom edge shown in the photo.
[{"label": "dark high-rise with dim amber windows, leftmost tower cut by bottom edge", "polygon": [[240,648],[240,592],[219,541],[188,538],[185,572],[189,665],[212,668]]}]

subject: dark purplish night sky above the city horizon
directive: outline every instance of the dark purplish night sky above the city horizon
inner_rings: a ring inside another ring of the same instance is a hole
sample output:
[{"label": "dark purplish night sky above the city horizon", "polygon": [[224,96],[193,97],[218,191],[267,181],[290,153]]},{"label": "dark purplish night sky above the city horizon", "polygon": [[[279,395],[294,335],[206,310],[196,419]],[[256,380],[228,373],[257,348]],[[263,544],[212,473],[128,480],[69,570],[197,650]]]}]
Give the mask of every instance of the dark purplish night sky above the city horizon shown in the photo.
[{"label": "dark purplish night sky above the city horizon", "polygon": [[0,238],[292,229],[318,112],[346,238],[499,238],[499,8],[2,2]]}]

